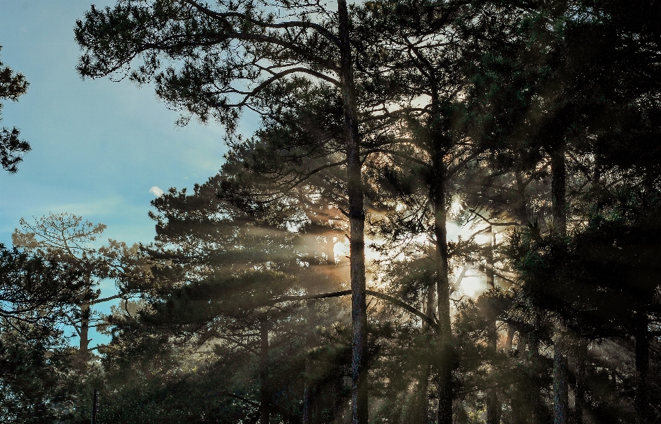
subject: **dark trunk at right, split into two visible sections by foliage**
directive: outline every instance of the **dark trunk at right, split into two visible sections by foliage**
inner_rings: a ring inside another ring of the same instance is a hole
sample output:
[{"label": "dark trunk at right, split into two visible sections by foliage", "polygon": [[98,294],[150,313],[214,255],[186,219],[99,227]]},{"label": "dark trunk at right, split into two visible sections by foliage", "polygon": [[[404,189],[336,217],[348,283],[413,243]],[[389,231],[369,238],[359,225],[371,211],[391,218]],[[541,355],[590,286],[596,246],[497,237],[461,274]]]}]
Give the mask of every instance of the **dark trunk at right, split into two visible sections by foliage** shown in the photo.
[{"label": "dark trunk at right, split into two visible sections by foliage", "polygon": [[[565,142],[551,149],[551,196],[553,226],[558,235],[567,235],[567,198],[565,188]],[[558,323],[560,324],[560,323]],[[560,328],[556,328],[559,332]],[[561,338],[556,337],[553,354],[553,401],[554,423],[567,424],[569,414],[569,386],[567,357],[563,352]]]}]

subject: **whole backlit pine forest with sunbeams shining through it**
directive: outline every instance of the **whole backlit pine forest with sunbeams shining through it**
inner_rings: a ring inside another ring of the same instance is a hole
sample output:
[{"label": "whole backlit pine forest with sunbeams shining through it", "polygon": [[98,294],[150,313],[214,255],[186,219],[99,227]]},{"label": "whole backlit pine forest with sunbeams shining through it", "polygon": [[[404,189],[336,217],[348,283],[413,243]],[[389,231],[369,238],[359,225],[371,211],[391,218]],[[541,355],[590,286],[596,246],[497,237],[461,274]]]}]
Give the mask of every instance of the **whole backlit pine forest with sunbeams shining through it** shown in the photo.
[{"label": "whole backlit pine forest with sunbeams shining through it", "polygon": [[[154,89],[228,153],[151,202],[151,242],[16,223],[0,423],[661,423],[660,2],[80,16],[81,78]],[[29,150],[3,127],[5,171]]]}]

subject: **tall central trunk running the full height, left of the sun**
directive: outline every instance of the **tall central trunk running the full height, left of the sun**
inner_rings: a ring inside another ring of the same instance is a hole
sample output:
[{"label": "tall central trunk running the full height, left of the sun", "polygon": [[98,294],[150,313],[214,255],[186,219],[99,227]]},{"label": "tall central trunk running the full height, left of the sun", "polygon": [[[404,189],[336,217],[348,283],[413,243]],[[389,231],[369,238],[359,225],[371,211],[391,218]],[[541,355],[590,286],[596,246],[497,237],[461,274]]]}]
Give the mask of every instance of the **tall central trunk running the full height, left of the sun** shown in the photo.
[{"label": "tall central trunk running the full height, left of the sun", "polygon": [[367,398],[367,303],[365,287],[365,211],[361,182],[360,140],[356,107],[353,59],[350,45],[350,23],[346,0],[337,1],[339,18],[340,82],[344,103],[346,136],[346,173],[349,200],[351,322],[353,343],[351,356],[351,415],[353,424],[368,423]]}]

